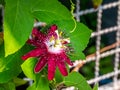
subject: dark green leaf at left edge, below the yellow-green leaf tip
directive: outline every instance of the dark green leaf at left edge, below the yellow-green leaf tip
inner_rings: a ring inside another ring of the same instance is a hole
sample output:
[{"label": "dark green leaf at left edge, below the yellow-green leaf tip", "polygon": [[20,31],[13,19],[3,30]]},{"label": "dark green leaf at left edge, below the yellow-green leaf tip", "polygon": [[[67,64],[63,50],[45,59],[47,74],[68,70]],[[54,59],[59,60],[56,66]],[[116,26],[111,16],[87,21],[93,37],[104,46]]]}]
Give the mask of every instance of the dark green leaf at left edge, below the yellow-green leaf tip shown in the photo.
[{"label": "dark green leaf at left edge, below the yellow-green leaf tip", "polygon": [[7,57],[0,57],[0,83],[6,83],[16,77],[21,72],[21,56],[27,51],[28,46],[24,46],[18,52]]}]

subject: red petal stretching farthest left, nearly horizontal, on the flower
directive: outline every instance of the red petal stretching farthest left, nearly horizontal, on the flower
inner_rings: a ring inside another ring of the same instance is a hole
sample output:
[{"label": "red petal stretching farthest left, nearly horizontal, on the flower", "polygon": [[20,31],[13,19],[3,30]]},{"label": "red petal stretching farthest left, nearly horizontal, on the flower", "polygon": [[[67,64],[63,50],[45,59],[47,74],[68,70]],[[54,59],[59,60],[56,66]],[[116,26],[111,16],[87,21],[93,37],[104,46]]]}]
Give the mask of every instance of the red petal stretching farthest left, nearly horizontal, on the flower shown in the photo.
[{"label": "red petal stretching farthest left, nearly horizontal, on the flower", "polygon": [[45,51],[44,50],[41,50],[41,49],[34,49],[34,50],[32,50],[32,51],[30,51],[30,52],[28,52],[27,54],[25,54],[24,56],[22,56],[22,59],[23,60],[26,60],[26,59],[28,59],[28,58],[30,58],[30,57],[38,57],[38,56],[40,56],[41,54],[43,54]]}]

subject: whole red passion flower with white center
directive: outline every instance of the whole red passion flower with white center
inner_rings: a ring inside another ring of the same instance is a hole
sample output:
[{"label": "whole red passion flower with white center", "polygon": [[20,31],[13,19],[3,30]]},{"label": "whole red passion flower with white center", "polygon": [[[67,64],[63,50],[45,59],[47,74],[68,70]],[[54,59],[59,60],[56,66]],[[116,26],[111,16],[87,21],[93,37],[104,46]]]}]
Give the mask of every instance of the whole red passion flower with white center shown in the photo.
[{"label": "whole red passion flower with white center", "polygon": [[40,72],[48,64],[49,80],[54,78],[56,67],[58,67],[62,75],[68,75],[65,64],[67,62],[69,65],[73,65],[66,54],[66,45],[70,43],[70,40],[61,37],[56,25],[52,25],[46,33],[34,28],[32,37],[27,43],[34,45],[36,48],[22,56],[22,59],[39,58],[34,68],[35,73]]}]

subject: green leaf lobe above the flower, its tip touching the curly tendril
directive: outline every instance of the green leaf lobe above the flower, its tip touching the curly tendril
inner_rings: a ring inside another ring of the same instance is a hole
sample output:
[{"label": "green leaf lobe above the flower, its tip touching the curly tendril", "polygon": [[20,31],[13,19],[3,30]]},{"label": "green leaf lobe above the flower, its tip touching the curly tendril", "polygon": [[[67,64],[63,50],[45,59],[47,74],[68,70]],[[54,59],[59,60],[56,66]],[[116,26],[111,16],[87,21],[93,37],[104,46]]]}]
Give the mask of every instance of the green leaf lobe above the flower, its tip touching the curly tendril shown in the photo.
[{"label": "green leaf lobe above the flower, its tip touching the curly tendril", "polygon": [[57,0],[37,0],[32,5],[32,14],[42,22],[68,20],[72,18],[69,10]]}]

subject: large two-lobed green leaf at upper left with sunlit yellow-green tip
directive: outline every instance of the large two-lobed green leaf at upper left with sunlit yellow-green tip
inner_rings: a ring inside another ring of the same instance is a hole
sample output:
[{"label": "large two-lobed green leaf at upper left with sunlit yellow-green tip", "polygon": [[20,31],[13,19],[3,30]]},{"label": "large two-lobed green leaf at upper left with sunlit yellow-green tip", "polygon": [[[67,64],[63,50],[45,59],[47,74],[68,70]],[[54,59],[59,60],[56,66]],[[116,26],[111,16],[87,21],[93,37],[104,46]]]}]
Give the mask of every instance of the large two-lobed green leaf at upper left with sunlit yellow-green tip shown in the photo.
[{"label": "large two-lobed green leaf at upper left with sunlit yellow-green tip", "polygon": [[37,0],[36,2],[33,0],[6,0],[4,17],[6,56],[16,52],[25,44],[32,30],[34,18],[46,23],[71,19],[72,15],[58,1],[52,0],[49,4],[47,3],[48,0]]}]

